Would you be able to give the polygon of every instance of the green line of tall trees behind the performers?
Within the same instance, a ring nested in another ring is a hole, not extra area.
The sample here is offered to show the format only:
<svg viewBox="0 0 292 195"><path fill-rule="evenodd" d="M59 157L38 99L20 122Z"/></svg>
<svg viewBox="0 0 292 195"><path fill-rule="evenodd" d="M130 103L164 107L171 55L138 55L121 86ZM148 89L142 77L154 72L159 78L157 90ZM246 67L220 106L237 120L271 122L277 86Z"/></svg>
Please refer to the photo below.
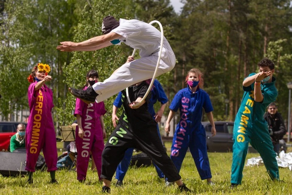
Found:
<svg viewBox="0 0 292 195"><path fill-rule="evenodd" d="M0 0L0 111L27 109L26 77L38 62L51 66L56 126L74 121L75 98L68 87L82 88L90 69L103 81L126 62L132 50L111 46L98 51L61 53L61 41L84 41L101 35L102 19L159 20L175 54L175 68L158 80L169 100L184 87L187 71L204 73L203 89L210 95L215 120L234 120L243 94L242 81L268 57L276 65L276 100L288 118L292 81L292 8L288 0L184 0L181 13L169 0ZM156 26L158 29L158 25ZM138 56L135 56L138 58ZM121 89L123 90L123 89ZM115 97L105 101L105 126L112 130ZM156 105L159 106L159 105ZM165 109L165 114L168 112ZM227 111L227 112L226 112ZM290 116L291 117L291 116ZM206 120L206 119L203 119Z"/></svg>

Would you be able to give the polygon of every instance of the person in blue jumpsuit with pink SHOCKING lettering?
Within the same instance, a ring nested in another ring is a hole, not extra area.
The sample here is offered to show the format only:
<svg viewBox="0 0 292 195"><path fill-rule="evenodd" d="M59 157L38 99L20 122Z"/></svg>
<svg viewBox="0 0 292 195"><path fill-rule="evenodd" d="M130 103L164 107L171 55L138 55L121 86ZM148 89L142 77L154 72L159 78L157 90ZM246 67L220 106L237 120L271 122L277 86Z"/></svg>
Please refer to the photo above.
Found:
<svg viewBox="0 0 292 195"><path fill-rule="evenodd" d="M202 108L204 108L212 126L212 136L216 135L212 114L213 107L207 92L200 88L203 86L203 78L199 69L189 70L186 83L188 86L179 90L169 106L170 112L165 125L167 133L170 131L169 123L175 112L178 109L180 111L180 120L173 136L170 158L177 170L180 171L182 161L189 148L201 179L207 179L208 184L214 185L211 180L212 175L207 155L206 132L201 123ZM166 185L168 185L167 181Z"/></svg>

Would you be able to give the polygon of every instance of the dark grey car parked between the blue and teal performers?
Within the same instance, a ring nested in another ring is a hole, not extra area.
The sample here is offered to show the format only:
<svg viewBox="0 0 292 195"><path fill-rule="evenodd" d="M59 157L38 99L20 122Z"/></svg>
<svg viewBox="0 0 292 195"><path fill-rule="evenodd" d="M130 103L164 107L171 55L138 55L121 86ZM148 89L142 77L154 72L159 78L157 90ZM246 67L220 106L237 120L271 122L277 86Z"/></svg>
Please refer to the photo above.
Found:
<svg viewBox="0 0 292 195"><path fill-rule="evenodd" d="M216 136L212 137L210 122L202 122L206 130L207 150L209 152L232 152L234 122L216 121Z"/></svg>

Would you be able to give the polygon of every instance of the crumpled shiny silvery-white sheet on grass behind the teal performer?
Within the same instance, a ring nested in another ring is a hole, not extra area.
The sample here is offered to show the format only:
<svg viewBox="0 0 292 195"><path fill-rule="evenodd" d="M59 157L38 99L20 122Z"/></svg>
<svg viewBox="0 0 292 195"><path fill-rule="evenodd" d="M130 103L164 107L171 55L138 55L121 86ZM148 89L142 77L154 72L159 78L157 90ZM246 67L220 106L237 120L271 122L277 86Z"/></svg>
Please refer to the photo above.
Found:
<svg viewBox="0 0 292 195"><path fill-rule="evenodd" d="M279 167L283 167L283 168L289 168L290 171L292 170L292 152L290 153L286 153L284 151L281 151L279 154L279 157L276 156L277 159L277 163ZM259 157L254 157L254 158L250 158L247 160L247 163L245 166L259 166L259 165L263 165L264 162L262 161L262 158Z"/></svg>

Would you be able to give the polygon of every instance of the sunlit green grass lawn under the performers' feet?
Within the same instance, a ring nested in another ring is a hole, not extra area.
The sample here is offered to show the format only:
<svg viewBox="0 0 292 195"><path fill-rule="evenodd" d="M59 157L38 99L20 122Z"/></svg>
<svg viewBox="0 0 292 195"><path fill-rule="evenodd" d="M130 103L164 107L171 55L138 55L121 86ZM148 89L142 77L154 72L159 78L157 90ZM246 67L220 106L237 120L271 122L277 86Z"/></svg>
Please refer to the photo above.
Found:
<svg viewBox="0 0 292 195"><path fill-rule="evenodd" d="M58 146L59 148L61 147ZM170 148L170 143L166 143ZM289 150L291 152L291 149ZM169 151L168 151L169 153ZM60 152L59 152L60 154ZM245 167L242 185L230 188L230 170L232 153L208 153L213 181L216 186L207 185L201 181L193 158L188 152L183 161L180 175L186 185L195 194L292 194L292 172L288 168L280 168L280 179L284 183L273 182L269 179L264 166ZM259 154L248 154L247 158L257 157ZM74 171L57 171L56 179L59 184L49 184L50 176L47 172L37 171L33 177L33 184L26 184L27 177L0 176L0 194L99 194L102 183L98 181L97 172L88 170L85 183L79 183ZM113 183L116 179L113 179ZM177 186L165 187L164 180L156 175L155 168L130 167L124 179L124 187L111 188L111 194L179 194ZM182 193L187 194L187 193Z"/></svg>

